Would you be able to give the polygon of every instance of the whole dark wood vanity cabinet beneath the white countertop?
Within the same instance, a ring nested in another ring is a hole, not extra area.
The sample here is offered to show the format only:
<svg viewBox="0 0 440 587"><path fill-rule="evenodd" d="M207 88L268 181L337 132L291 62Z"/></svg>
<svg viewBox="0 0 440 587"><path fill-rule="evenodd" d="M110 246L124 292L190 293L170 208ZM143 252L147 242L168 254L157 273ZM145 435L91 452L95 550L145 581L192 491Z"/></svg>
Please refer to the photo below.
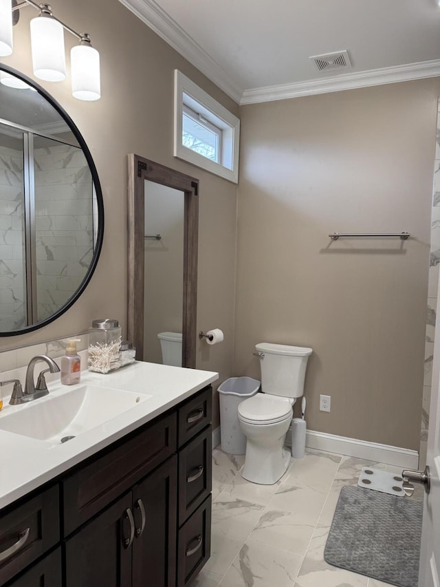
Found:
<svg viewBox="0 0 440 587"><path fill-rule="evenodd" d="M207 387L0 512L3 551L30 528L0 587L188 586L210 556L211 410Z"/></svg>

